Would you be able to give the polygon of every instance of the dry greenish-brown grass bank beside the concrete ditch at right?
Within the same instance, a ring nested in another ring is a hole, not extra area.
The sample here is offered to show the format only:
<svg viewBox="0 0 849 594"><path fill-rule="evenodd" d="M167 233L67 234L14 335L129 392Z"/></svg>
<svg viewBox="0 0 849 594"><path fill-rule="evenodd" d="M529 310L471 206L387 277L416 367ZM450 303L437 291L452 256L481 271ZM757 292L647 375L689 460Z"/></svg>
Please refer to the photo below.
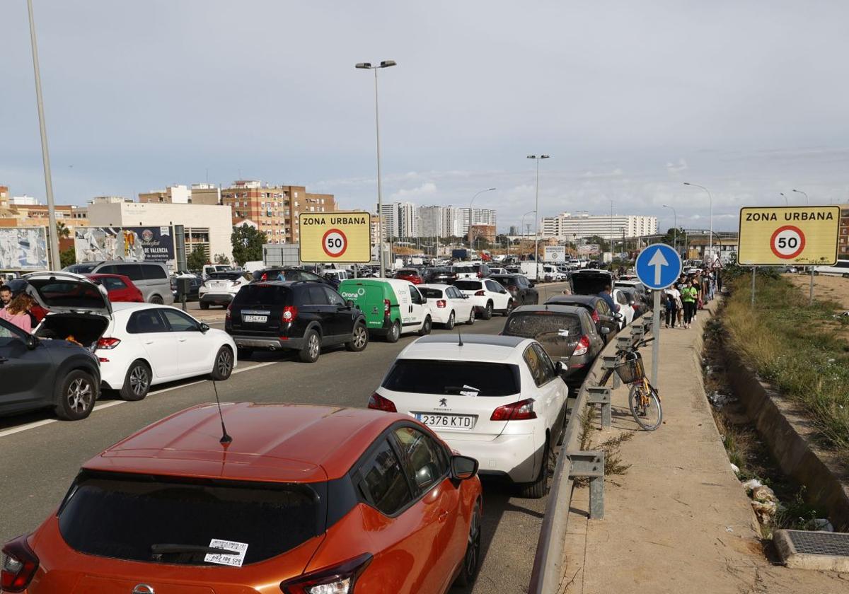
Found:
<svg viewBox="0 0 849 594"><path fill-rule="evenodd" d="M807 412L821 446L849 454L849 344L827 325L839 305L809 306L786 279L759 276L752 308L750 283L742 275L728 281L728 345Z"/></svg>

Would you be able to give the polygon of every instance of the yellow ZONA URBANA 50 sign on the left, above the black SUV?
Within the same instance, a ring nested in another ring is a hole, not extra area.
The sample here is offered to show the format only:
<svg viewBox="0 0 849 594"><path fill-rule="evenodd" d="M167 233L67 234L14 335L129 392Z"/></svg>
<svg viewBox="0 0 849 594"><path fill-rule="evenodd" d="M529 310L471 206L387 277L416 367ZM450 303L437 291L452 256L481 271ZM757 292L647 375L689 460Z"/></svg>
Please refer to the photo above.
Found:
<svg viewBox="0 0 849 594"><path fill-rule="evenodd" d="M301 262L366 264L371 261L368 212L302 212Z"/></svg>

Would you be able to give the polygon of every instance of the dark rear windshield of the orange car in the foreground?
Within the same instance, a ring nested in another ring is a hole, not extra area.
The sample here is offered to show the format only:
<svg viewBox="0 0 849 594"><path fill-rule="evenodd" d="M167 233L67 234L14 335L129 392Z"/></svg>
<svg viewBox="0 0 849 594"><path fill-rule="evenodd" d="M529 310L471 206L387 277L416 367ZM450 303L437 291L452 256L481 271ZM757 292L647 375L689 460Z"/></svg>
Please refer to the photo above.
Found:
<svg viewBox="0 0 849 594"><path fill-rule="evenodd" d="M59 531L76 551L101 557L205 564L191 547L218 539L245 543L244 563L256 563L323 533L324 486L83 473L59 510ZM189 552L155 557L161 544Z"/></svg>

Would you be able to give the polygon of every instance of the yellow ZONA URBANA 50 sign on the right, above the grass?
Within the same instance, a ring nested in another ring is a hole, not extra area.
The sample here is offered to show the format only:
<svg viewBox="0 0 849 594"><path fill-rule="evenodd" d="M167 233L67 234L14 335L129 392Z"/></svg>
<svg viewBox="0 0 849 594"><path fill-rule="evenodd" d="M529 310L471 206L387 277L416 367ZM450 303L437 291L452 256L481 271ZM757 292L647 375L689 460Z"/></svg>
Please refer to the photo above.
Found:
<svg viewBox="0 0 849 594"><path fill-rule="evenodd" d="M740 209L737 261L744 266L829 266L837 261L840 206Z"/></svg>

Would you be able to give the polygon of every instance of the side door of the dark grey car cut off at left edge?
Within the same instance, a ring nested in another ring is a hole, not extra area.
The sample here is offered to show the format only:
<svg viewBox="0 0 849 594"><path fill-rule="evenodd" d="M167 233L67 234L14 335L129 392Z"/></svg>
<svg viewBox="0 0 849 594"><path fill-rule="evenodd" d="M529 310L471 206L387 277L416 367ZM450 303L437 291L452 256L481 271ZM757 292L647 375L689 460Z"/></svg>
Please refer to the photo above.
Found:
<svg viewBox="0 0 849 594"><path fill-rule="evenodd" d="M53 358L43 346L28 349L26 337L17 326L0 320L0 410L53 399Z"/></svg>

